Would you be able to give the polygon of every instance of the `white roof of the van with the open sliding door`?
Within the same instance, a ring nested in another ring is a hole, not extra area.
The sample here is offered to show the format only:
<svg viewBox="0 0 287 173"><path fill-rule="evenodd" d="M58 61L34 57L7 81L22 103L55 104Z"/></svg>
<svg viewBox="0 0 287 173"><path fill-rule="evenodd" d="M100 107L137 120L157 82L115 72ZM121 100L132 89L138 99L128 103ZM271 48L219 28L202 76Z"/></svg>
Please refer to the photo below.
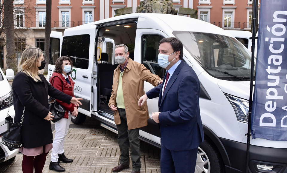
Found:
<svg viewBox="0 0 287 173"><path fill-rule="evenodd" d="M99 21L94 21L88 24L80 25L66 30L80 30L91 25L98 25L103 23L109 23L113 21L121 21L127 19L137 19L137 28L150 28L165 31L166 34L171 37L173 31L191 31L201 33L213 33L232 37L231 34L225 32L222 28L219 28L213 24L198 19L170 15L170 14L156 14L156 13L132 13L112 18L107 18ZM144 20L146 19L146 20ZM141 22L140 22L141 21Z"/></svg>

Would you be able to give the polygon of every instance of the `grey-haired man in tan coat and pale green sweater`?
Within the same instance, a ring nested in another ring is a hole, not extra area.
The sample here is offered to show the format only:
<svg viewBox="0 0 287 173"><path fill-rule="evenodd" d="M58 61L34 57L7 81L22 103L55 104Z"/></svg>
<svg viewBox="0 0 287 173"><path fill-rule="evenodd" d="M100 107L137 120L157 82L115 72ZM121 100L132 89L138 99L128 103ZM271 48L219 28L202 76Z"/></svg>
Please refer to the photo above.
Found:
<svg viewBox="0 0 287 173"><path fill-rule="evenodd" d="M144 81L153 86L162 83L158 75L152 74L143 64L129 58L128 47L115 46L115 58L119 66L114 71L114 83L109 108L114 112L120 146L120 164L112 169L120 172L129 168L129 145L131 147L132 173L140 173L141 155L139 128L147 125L149 111L147 104L138 106L138 99L144 95Z"/></svg>

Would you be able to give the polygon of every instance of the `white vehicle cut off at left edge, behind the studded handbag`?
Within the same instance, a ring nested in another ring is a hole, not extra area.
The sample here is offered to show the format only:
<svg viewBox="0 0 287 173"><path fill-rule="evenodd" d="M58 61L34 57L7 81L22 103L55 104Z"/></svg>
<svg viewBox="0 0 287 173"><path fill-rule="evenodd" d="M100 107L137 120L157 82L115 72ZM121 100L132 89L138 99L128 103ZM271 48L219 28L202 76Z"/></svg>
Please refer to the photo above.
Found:
<svg viewBox="0 0 287 173"><path fill-rule="evenodd" d="M9 96L11 91L11 86L8 82L8 80L12 80L14 78L14 72L12 69L6 70L6 75L4 75L3 71L0 68L0 134L2 134L5 130L4 123L5 118L7 116L8 112L8 106L9 106ZM14 112L14 106L13 106L13 100L10 100L10 109L9 109L9 115L14 118L15 112ZM3 125L3 126L2 126ZM5 126L7 129L7 126ZM3 145L1 143L1 136L0 136L0 163L9 160L9 159L15 159L18 149L10 149L7 146Z"/></svg>

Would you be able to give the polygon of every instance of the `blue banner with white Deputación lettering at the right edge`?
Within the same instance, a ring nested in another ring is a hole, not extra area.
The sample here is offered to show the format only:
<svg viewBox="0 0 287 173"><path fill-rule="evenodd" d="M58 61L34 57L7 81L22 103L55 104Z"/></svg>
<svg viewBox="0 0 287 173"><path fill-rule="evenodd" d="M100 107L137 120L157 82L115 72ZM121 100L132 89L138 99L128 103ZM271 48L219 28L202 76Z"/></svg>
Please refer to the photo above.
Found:
<svg viewBox="0 0 287 173"><path fill-rule="evenodd" d="M287 3L261 0L252 138L287 140Z"/></svg>

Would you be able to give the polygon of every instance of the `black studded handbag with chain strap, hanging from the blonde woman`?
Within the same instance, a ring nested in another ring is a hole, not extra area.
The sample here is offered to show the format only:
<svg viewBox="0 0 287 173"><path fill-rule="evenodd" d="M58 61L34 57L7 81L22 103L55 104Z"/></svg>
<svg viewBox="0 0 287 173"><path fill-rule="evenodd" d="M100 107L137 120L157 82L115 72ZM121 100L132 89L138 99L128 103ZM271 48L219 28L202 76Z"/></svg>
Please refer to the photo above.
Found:
<svg viewBox="0 0 287 173"><path fill-rule="evenodd" d="M10 92L10 99L12 99L12 89ZM5 123L8 125L8 132L5 133L1 138L1 143L6 145L9 148L17 149L22 147L22 122L24 118L25 107L23 109L23 114L21 117L21 121L17 123L13 123L13 118L9 115L10 110L10 101L9 108L7 112L7 117L5 118Z"/></svg>

